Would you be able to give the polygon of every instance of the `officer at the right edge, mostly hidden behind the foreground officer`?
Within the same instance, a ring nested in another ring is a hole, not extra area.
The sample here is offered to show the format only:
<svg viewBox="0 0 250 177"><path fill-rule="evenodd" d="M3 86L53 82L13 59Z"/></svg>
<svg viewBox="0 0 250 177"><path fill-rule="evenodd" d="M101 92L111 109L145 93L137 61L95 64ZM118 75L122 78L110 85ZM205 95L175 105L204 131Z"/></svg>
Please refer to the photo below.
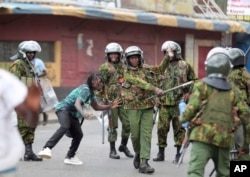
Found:
<svg viewBox="0 0 250 177"><path fill-rule="evenodd" d="M250 106L250 74L246 70L246 56L241 49L228 48L233 69L229 74L230 83L241 91L245 102ZM235 146L239 150L238 160L250 160L249 145L243 145L243 129L240 126L235 132Z"/></svg>

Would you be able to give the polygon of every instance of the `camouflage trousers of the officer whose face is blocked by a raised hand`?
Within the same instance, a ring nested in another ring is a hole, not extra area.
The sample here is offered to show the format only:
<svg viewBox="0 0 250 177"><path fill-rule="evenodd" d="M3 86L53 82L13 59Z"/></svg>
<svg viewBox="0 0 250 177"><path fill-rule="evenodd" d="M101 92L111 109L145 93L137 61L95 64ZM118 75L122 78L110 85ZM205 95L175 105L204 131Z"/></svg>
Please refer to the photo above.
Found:
<svg viewBox="0 0 250 177"><path fill-rule="evenodd" d="M179 108L177 106L162 105L159 109L159 120L157 125L158 146L167 147L167 136L170 124L174 131L175 146L181 146L185 137L185 129L181 128L179 121Z"/></svg>

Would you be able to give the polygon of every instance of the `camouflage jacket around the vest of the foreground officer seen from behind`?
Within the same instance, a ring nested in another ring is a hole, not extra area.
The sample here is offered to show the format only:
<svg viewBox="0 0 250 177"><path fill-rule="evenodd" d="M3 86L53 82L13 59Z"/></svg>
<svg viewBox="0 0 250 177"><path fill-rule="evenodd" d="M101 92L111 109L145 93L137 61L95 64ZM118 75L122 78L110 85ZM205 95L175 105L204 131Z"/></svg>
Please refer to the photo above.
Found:
<svg viewBox="0 0 250 177"><path fill-rule="evenodd" d="M209 101L209 96L213 93L214 88L208 86L202 81L194 84L192 95L188 105L182 114L181 122L191 122L194 127L191 129L190 140L203 143L213 144L215 146L230 148L232 144L232 131L225 131L223 124L207 123L199 120L202 115L202 110L206 106L206 101ZM239 89L233 87L229 92L229 100L231 107L237 110L238 116L243 124L245 131L245 141L250 141L250 124L249 124L249 108L243 101ZM216 99L216 97L213 97ZM233 112L233 110L232 110ZM218 112L219 116L219 112ZM195 124L193 124L196 122ZM199 122L199 123L197 123Z"/></svg>

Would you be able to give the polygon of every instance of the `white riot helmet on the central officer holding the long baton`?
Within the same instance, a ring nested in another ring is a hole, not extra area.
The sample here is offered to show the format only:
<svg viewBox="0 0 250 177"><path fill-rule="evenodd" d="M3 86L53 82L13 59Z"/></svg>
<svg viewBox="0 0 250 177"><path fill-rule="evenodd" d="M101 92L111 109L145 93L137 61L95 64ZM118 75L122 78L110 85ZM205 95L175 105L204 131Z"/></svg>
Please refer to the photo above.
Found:
<svg viewBox="0 0 250 177"><path fill-rule="evenodd" d="M126 64L127 66L131 66L131 63L129 61L129 58L131 56L138 56L139 57L139 67L141 67L143 65L143 51L140 49L140 47L138 46L129 46L128 48L126 48L125 50L125 59L126 59Z"/></svg>

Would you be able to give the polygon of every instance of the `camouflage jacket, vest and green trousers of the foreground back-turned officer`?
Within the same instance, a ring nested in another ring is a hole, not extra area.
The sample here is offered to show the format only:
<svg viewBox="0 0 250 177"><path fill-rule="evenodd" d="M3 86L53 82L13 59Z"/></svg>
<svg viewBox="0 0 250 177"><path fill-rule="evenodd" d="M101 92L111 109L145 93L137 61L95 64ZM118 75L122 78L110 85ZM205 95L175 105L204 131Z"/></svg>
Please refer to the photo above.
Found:
<svg viewBox="0 0 250 177"><path fill-rule="evenodd" d="M249 109L237 88L223 91L203 81L194 84L187 108L180 120L181 123L190 122L193 127L189 136L192 142L189 177L203 176L209 158L215 163L217 176L229 176L228 154L232 143L234 107L237 107L238 116L249 134Z"/></svg>

